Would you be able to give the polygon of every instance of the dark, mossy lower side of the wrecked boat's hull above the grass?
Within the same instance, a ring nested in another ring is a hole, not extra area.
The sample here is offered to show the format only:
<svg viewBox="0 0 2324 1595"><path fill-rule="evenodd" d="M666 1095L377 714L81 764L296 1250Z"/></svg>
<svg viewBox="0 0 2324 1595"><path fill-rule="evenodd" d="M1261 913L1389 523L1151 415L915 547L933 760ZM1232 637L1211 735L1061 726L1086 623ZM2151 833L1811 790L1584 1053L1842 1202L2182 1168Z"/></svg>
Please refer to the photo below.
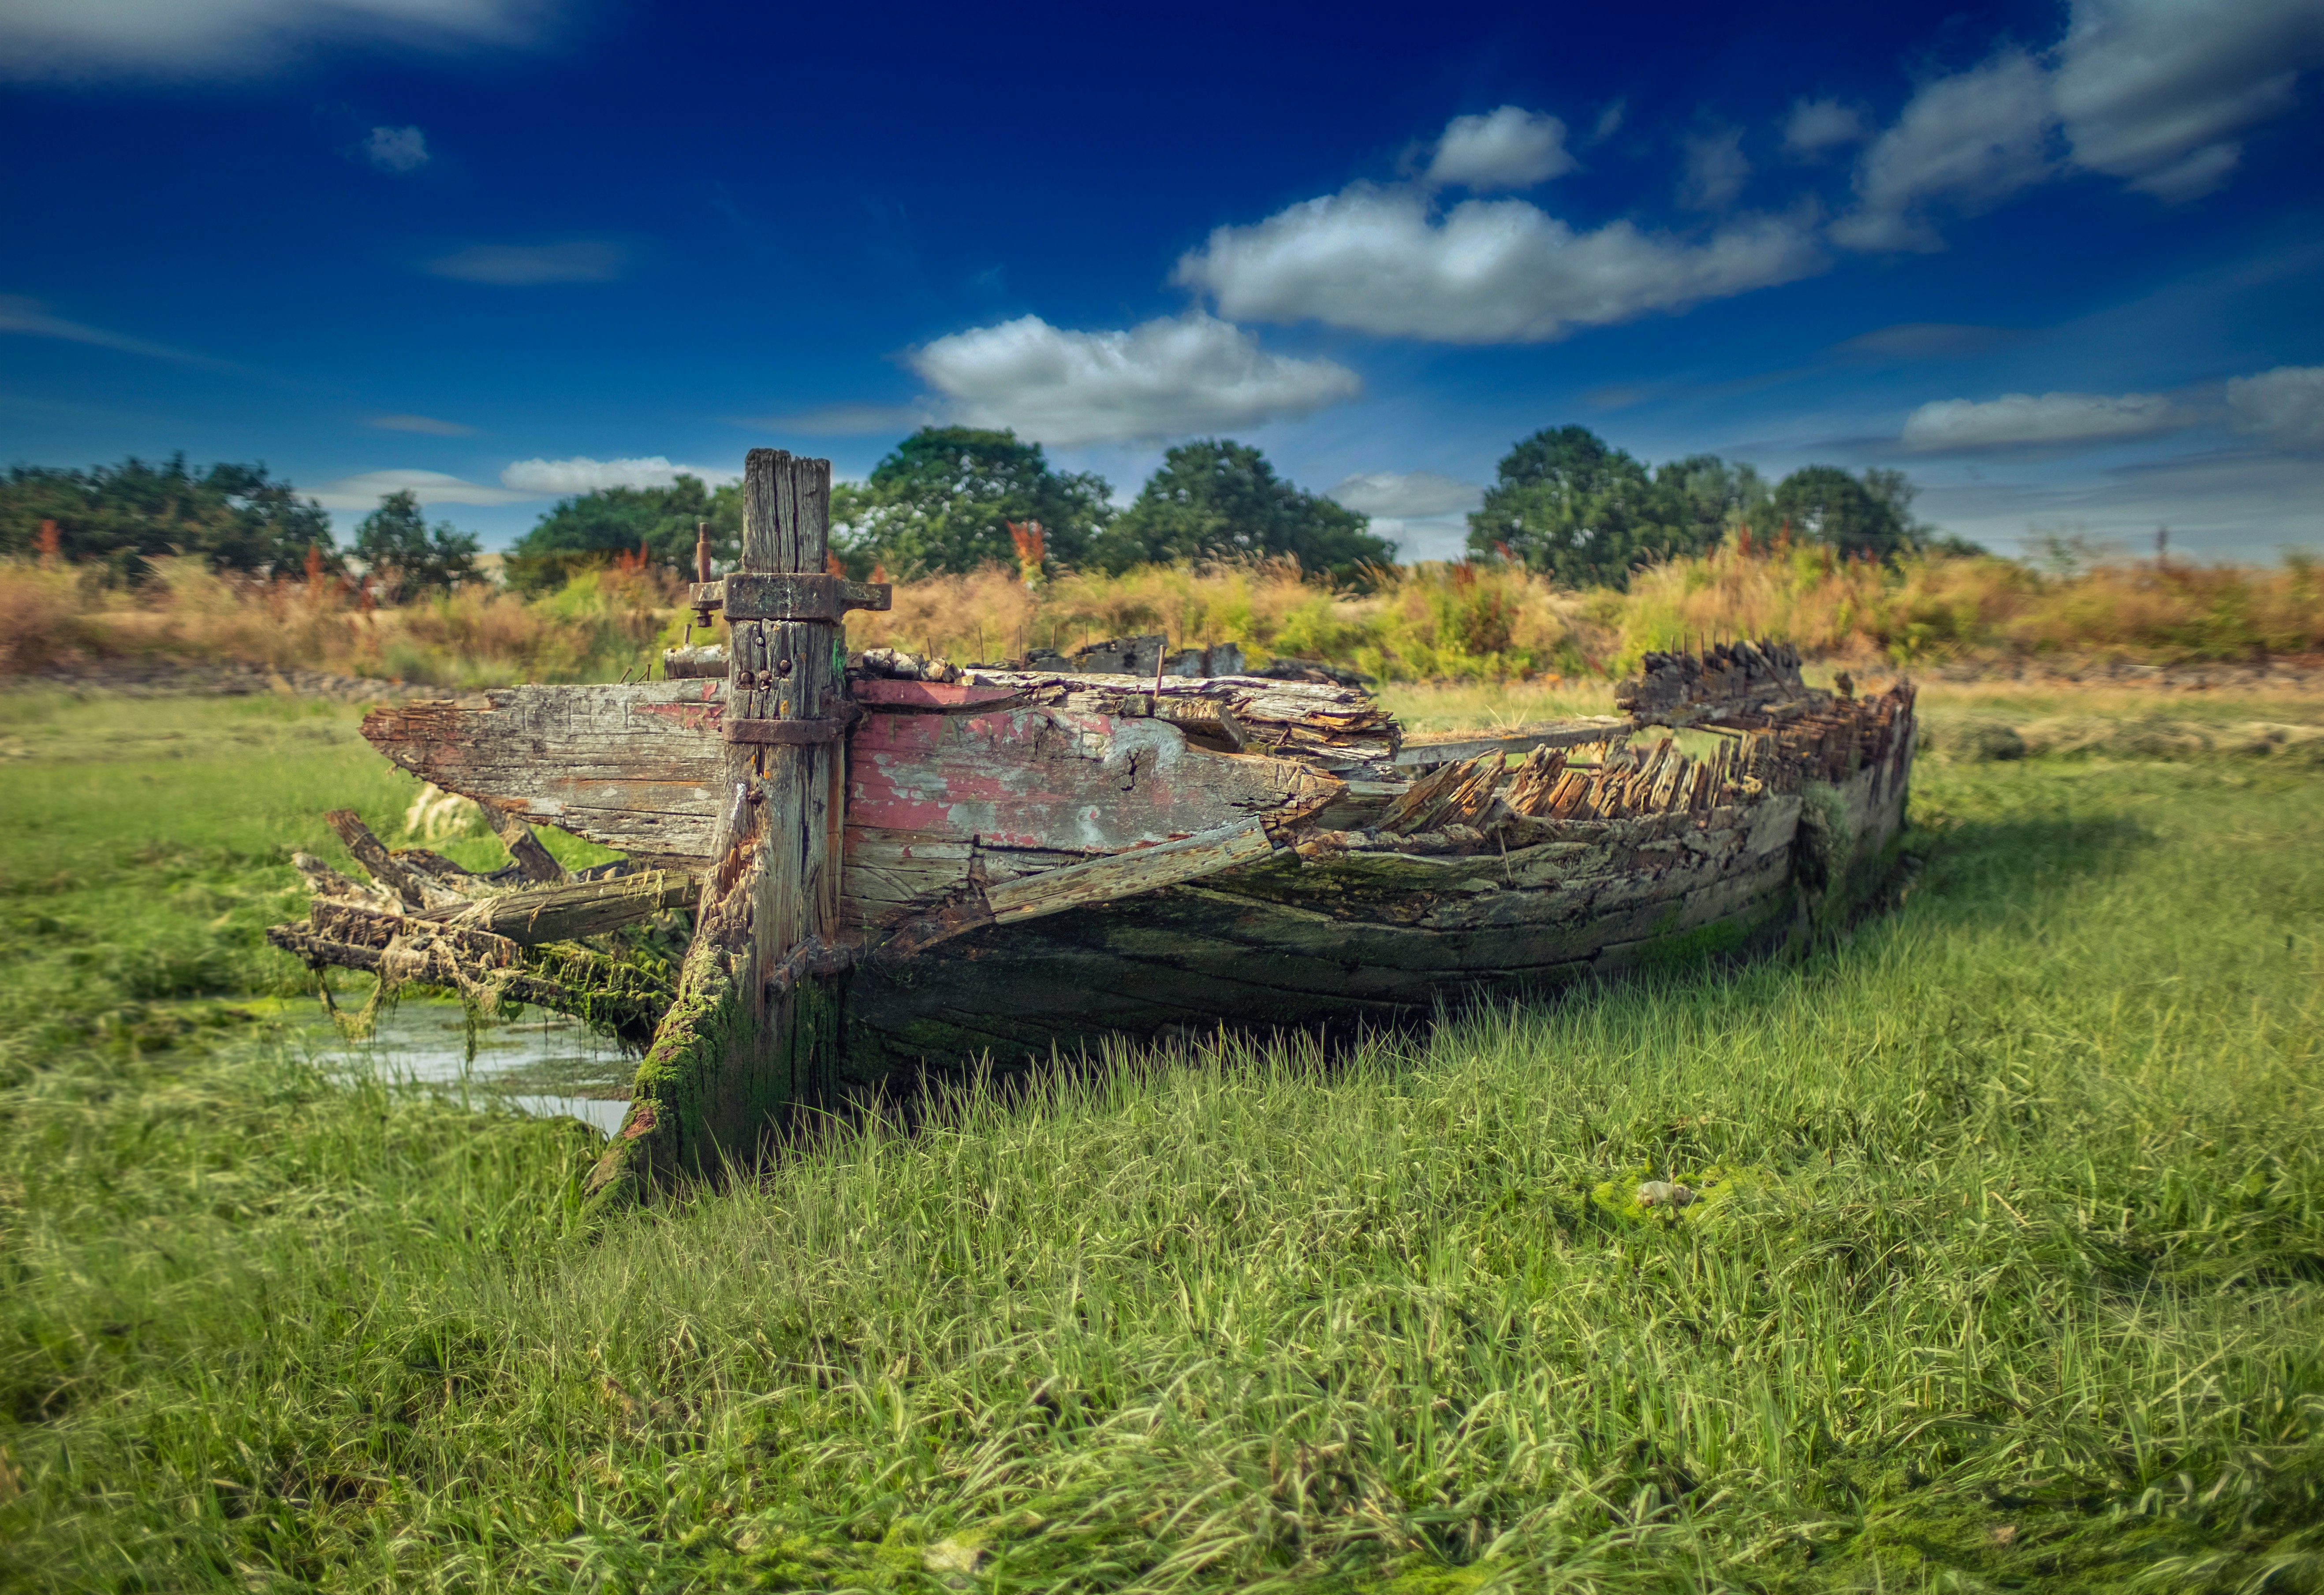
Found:
<svg viewBox="0 0 2324 1595"><path fill-rule="evenodd" d="M1843 816L1822 888L1799 879L1803 798L1766 793L1706 814L1543 825L1506 853L1278 856L874 958L848 984L848 1083L1106 1037L1401 1025L1766 946L1871 884L1903 825L1910 760L1906 732L1880 763L1808 788Z"/></svg>

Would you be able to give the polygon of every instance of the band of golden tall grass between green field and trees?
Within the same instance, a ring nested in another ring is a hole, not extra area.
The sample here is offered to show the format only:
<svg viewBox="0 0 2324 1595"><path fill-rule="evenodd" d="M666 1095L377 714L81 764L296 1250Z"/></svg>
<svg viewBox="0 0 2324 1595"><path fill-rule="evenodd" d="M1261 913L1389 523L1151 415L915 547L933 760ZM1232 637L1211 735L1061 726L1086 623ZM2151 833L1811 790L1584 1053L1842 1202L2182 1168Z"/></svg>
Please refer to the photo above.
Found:
<svg viewBox="0 0 2324 1595"><path fill-rule="evenodd" d="M376 609L339 581L239 581L165 560L137 593L30 563L0 563L0 674L86 658L232 658L407 681L576 681L641 670L674 642L679 584L583 570L558 593L495 588ZM895 607L848 618L848 646L953 660L1074 651L1164 632L1171 646L1234 642L1253 665L1320 658L1383 681L1559 688L1636 670L1650 649L1787 637L1859 677L1954 660L2231 663L2324 651L2324 584L2305 558L2275 567L2124 563L2043 574L1999 558L1901 565L1829 549L1750 549L1641 572L1629 591L1573 593L1504 563L1373 572L1336 591L1287 560L1150 565L1039 586L1002 567L925 577ZM1478 700L1520 714L1518 693Z"/></svg>

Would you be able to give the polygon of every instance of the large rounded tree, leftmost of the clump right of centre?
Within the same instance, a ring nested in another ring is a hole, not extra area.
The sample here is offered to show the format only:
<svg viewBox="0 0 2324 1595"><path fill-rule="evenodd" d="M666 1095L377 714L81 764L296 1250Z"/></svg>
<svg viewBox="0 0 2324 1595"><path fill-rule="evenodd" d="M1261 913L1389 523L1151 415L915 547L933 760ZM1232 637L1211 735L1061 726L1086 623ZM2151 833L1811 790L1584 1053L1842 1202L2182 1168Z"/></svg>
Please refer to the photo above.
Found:
<svg viewBox="0 0 2324 1595"><path fill-rule="evenodd" d="M1641 563L1687 549L1676 498L1678 477L1657 488L1643 463L1590 428L1543 428L1501 458L1469 516L1469 549L1506 546L1566 586L1624 586Z"/></svg>

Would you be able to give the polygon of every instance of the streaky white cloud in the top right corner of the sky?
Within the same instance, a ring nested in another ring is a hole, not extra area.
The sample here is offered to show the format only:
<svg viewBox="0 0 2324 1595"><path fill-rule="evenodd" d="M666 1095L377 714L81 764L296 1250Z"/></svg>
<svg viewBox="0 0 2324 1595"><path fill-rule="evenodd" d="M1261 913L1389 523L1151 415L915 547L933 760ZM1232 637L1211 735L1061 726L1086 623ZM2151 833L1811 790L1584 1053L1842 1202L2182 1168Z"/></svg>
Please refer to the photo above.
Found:
<svg viewBox="0 0 2324 1595"><path fill-rule="evenodd" d="M2238 133L2324 63L2319 0L2075 0L2052 88L2078 165L2164 200L2219 186Z"/></svg>

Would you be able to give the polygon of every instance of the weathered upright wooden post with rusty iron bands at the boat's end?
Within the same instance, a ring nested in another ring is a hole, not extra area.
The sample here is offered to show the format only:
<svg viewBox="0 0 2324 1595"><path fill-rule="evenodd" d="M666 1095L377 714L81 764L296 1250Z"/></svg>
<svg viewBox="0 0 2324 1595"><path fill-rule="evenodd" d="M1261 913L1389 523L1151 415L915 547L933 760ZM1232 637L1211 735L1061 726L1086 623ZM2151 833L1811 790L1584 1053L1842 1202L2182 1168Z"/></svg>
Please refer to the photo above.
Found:
<svg viewBox="0 0 2324 1595"><path fill-rule="evenodd" d="M885 588L825 574L832 463L744 460L741 567L695 588L727 618L725 779L679 995L593 1193L748 1156L830 1081L839 1049L839 844L848 609ZM706 574L706 572L702 572Z"/></svg>

